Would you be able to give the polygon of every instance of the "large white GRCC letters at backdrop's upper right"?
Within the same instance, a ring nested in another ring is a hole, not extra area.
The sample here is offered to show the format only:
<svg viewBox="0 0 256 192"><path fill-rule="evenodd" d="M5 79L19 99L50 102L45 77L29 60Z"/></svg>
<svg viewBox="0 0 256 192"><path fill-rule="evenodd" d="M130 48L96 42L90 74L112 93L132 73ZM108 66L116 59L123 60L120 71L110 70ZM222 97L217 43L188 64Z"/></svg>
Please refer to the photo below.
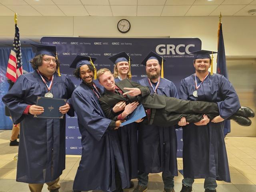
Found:
<svg viewBox="0 0 256 192"><path fill-rule="evenodd" d="M188 51L188 49L190 47L194 47L195 45L194 44L188 44L187 46L185 46L185 44L179 44L175 47L175 45L173 44L160 44L158 46L156 46L156 53L157 54L160 54L160 55L170 55L170 52L172 52L172 55L176 55L179 54L179 55L184 55L185 52L187 54L190 54L190 52ZM185 48L185 52L180 52L180 47L184 47Z"/></svg>

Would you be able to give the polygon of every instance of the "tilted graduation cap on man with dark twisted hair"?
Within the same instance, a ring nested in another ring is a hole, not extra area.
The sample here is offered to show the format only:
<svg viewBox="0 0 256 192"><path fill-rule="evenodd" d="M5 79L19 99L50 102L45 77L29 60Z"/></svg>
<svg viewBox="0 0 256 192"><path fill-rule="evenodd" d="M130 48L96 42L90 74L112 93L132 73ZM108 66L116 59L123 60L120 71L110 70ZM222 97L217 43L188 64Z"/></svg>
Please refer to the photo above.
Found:
<svg viewBox="0 0 256 192"><path fill-rule="evenodd" d="M94 68L94 80L95 80L97 78L97 70L96 70L93 62L96 61L96 59L97 58L95 58L95 57L87 57L87 56L77 55L69 67L76 69L83 65L91 65Z"/></svg>

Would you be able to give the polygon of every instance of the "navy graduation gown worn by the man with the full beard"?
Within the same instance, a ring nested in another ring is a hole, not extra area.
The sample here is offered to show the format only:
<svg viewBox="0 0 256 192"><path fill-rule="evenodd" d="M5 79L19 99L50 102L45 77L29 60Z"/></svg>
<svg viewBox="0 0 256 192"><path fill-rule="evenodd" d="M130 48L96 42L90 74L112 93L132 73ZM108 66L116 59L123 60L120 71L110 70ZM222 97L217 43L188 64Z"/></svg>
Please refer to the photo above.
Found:
<svg viewBox="0 0 256 192"><path fill-rule="evenodd" d="M138 81L143 86L153 88L148 78ZM157 94L178 98L178 92L173 82L160 78ZM174 126L160 127L155 125L139 124L138 128L138 170L146 173L165 172L173 176L177 171L177 137Z"/></svg>

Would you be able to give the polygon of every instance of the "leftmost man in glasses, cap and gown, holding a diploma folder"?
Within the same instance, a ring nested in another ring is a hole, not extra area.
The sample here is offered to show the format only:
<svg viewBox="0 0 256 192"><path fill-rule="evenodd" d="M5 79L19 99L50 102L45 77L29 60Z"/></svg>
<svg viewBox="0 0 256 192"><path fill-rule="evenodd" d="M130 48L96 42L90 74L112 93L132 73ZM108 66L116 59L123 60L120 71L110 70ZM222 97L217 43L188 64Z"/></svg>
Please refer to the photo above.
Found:
<svg viewBox="0 0 256 192"><path fill-rule="evenodd" d="M36 99L37 96L69 99L74 84L59 73L56 46L32 46L36 48L36 56L30 61L34 71L19 76L2 98L13 123L21 125L16 180L28 183L31 192L41 191L44 183L50 192L58 192L58 181L65 169L66 118L34 118L44 112L43 107L36 106ZM74 116L68 103L69 100L59 111Z"/></svg>

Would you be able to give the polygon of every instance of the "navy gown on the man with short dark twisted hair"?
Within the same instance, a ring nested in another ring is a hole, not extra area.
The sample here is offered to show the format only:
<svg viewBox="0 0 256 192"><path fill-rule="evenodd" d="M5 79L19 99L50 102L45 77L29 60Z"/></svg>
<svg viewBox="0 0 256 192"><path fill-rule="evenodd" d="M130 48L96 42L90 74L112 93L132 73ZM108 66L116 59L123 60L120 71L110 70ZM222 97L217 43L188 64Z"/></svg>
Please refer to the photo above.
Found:
<svg viewBox="0 0 256 192"><path fill-rule="evenodd" d="M99 88L100 85L96 86ZM114 191L115 161L120 172L122 188L129 186L130 180L124 170L118 132L108 129L108 126L115 125L115 122L105 117L96 94L82 82L72 94L72 105L82 135L82 158L73 189Z"/></svg>

